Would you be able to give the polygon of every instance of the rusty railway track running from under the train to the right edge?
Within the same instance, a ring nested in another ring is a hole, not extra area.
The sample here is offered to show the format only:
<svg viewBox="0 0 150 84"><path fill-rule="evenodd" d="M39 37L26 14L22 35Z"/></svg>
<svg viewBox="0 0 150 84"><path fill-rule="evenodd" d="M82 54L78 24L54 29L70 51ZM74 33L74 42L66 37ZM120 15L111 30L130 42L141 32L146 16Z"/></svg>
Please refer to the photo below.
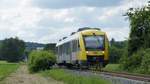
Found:
<svg viewBox="0 0 150 84"><path fill-rule="evenodd" d="M143 81L144 84L150 84L150 75L143 75L143 74L132 74L132 73L126 73L126 72L113 72L113 71L95 71L95 70L77 70L73 69L74 71L78 71L79 74L96 74L96 75L107 75L112 77L120 77L120 78L126 78L130 80L136 80L136 81ZM140 84L140 83L139 83Z"/></svg>

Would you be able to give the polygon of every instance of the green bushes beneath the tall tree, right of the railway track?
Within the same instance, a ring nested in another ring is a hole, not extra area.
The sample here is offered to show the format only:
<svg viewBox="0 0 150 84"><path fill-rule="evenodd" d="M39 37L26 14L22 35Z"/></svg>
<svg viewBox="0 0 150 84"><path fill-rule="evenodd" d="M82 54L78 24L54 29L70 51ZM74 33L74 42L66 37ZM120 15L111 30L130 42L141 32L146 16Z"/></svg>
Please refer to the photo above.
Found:
<svg viewBox="0 0 150 84"><path fill-rule="evenodd" d="M121 65L124 70L150 74L150 48L140 49L132 56L125 56L121 59Z"/></svg>

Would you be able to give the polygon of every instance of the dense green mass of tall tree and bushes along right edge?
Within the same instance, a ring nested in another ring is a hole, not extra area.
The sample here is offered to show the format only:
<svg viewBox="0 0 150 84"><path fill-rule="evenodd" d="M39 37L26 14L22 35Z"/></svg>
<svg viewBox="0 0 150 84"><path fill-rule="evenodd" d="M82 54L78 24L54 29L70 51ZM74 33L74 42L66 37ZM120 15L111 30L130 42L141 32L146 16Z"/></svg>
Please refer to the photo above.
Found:
<svg viewBox="0 0 150 84"><path fill-rule="evenodd" d="M131 8L128 49L121 59L125 70L150 74L150 6Z"/></svg>

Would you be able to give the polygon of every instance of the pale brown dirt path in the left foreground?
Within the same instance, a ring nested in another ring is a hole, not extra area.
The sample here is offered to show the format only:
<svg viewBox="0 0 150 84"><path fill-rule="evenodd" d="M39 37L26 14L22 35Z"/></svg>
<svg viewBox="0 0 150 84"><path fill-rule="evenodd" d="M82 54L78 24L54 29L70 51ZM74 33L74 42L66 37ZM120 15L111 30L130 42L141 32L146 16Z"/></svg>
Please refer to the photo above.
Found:
<svg viewBox="0 0 150 84"><path fill-rule="evenodd" d="M27 66L22 65L15 73L12 73L0 84L63 84L52 78L44 78L39 74L30 74Z"/></svg>

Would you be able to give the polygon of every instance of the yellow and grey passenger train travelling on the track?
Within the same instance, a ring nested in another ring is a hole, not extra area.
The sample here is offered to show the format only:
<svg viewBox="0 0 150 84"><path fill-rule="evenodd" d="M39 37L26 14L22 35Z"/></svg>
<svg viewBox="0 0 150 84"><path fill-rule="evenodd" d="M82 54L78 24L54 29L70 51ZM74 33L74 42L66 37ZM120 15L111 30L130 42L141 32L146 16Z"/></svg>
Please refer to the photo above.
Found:
<svg viewBox="0 0 150 84"><path fill-rule="evenodd" d="M109 41L99 28L80 28L56 44L57 64L89 67L108 64Z"/></svg>

